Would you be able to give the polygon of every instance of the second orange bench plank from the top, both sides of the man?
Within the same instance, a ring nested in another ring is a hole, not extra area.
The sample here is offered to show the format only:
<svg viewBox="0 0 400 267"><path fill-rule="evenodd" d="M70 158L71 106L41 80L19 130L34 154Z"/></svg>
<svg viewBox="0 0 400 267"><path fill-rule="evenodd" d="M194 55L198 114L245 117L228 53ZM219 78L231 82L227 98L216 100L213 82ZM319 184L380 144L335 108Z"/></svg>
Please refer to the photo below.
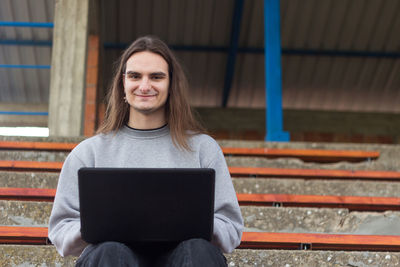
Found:
<svg viewBox="0 0 400 267"><path fill-rule="evenodd" d="M63 162L0 160L0 170L59 172ZM395 171L351 171L324 169L285 169L263 167L229 167L232 177L276 177L300 179L365 179L378 181L400 181L400 172Z"/></svg>

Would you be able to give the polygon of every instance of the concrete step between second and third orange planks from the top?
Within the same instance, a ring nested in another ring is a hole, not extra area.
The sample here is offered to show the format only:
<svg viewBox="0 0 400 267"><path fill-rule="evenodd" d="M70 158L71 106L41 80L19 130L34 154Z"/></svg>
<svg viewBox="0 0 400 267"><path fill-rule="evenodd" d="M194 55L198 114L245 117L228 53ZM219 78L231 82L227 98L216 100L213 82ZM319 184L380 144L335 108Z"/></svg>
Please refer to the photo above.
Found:
<svg viewBox="0 0 400 267"><path fill-rule="evenodd" d="M0 171L1 187L56 188L58 173ZM400 197L399 182L233 178L238 193Z"/></svg>

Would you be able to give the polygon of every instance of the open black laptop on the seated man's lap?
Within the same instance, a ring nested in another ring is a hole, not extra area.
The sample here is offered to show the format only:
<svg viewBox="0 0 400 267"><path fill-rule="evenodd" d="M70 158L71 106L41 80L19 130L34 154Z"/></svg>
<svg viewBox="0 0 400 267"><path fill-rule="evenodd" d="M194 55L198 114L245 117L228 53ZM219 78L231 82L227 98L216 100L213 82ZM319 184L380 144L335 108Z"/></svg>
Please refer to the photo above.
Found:
<svg viewBox="0 0 400 267"><path fill-rule="evenodd" d="M88 243L211 240L214 169L81 168L78 182Z"/></svg>

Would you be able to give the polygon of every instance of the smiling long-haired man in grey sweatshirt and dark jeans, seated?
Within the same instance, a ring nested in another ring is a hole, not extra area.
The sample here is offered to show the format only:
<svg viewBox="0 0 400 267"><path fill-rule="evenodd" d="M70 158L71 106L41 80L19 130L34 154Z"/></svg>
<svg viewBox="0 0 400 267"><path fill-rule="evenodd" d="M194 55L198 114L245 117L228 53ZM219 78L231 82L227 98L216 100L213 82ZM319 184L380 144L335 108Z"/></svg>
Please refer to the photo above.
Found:
<svg viewBox="0 0 400 267"><path fill-rule="evenodd" d="M158 38L141 37L124 51L103 124L68 155L60 173L49 238L62 256L80 255L77 266L226 266L222 253L239 245L243 219L223 153L195 120L187 90L182 67ZM190 239L159 251L117 242L87 244L80 234L82 167L213 168L212 241Z"/></svg>

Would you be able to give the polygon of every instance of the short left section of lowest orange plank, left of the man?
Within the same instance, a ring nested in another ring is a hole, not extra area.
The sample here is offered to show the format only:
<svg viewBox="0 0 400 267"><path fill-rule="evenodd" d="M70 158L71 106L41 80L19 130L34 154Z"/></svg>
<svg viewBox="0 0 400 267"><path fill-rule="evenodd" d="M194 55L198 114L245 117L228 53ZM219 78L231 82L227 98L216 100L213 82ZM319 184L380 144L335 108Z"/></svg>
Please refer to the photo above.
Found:
<svg viewBox="0 0 400 267"><path fill-rule="evenodd" d="M48 244L47 227L0 226L1 244Z"/></svg>

